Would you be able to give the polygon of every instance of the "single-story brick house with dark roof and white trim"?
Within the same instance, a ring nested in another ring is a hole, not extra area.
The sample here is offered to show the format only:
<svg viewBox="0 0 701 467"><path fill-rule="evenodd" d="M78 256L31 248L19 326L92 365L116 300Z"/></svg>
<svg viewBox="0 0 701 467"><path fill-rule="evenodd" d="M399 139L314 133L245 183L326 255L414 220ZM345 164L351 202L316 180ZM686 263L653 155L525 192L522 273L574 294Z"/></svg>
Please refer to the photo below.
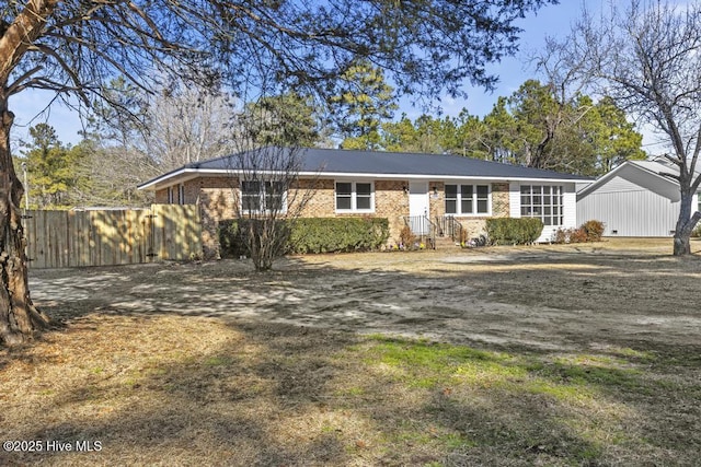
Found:
<svg viewBox="0 0 701 467"><path fill-rule="evenodd" d="M591 182L456 155L302 149L297 157L300 186L313 180L315 190L303 217L387 218L391 242L407 224L422 229L411 219L452 218L468 236L476 236L492 217L539 218L545 225L539 241L548 242L559 227L577 225L577 184ZM211 254L219 221L232 219L235 205L241 207L235 167L241 160L234 154L187 164L139 188L153 190L158 203L199 206L205 254Z"/></svg>

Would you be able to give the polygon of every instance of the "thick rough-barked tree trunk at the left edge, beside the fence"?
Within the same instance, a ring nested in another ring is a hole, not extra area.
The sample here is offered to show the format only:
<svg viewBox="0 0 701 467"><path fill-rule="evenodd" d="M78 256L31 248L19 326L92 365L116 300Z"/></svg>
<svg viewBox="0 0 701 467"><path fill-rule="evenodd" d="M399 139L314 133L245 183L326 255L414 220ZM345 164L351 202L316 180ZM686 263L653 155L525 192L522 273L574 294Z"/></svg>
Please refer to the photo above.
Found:
<svg viewBox="0 0 701 467"><path fill-rule="evenodd" d="M10 129L14 115L0 102L0 345L15 346L48 325L30 299L26 240L19 208L24 188L14 173Z"/></svg>

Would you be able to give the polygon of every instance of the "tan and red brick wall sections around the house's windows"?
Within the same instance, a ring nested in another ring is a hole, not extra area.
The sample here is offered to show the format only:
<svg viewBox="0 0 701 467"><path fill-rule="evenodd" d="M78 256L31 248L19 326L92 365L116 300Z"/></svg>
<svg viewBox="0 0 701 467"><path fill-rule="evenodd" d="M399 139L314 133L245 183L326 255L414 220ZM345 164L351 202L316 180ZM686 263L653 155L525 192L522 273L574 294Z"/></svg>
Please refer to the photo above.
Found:
<svg viewBox="0 0 701 467"><path fill-rule="evenodd" d="M232 185L234 185L232 187ZM310 198L301 212L304 218L335 218L335 217L374 217L387 218L390 226L389 243L398 243L400 232L404 227L404 217L409 215L409 194L405 188L409 180L376 180L375 182L375 212L372 213L336 213L335 212L335 180L331 178L303 179L299 183L297 194L288 196L295 199L310 194ZM434 194L434 188L437 195ZM310 192L311 189L311 192ZM508 217L509 214L508 183L492 184L492 217ZM432 220L445 215L445 183L428 182L428 198ZM198 205L203 223L203 248L206 258L219 256L219 222L234 219L238 208L238 182L232 184L227 177L199 177L184 184L184 203ZM177 203L177 186L174 187L174 202ZM156 191L156 202L168 202L168 189ZM289 207L295 210L294 206ZM457 217L467 231L467 236L474 237L485 231L487 217Z"/></svg>

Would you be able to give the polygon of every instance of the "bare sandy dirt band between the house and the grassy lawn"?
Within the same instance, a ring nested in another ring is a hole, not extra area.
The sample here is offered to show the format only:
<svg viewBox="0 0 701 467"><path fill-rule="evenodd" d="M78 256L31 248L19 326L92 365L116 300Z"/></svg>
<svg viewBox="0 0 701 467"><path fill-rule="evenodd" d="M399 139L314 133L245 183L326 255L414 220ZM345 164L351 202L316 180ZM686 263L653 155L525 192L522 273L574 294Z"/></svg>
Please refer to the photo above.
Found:
<svg viewBox="0 0 701 467"><path fill-rule="evenodd" d="M698 346L701 242L670 241L33 270L57 322L84 313L180 314L543 350Z"/></svg>

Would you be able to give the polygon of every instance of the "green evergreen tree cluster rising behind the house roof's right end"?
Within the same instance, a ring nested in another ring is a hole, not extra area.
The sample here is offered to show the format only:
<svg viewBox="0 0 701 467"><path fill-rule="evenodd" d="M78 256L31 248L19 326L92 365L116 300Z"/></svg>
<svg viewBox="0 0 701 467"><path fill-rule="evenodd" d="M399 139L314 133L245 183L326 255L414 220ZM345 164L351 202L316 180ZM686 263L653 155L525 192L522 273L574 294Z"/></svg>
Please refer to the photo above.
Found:
<svg viewBox="0 0 701 467"><path fill-rule="evenodd" d="M552 87L526 81L499 97L484 118L492 160L597 176L630 159L644 159L642 136L609 98L561 102Z"/></svg>

